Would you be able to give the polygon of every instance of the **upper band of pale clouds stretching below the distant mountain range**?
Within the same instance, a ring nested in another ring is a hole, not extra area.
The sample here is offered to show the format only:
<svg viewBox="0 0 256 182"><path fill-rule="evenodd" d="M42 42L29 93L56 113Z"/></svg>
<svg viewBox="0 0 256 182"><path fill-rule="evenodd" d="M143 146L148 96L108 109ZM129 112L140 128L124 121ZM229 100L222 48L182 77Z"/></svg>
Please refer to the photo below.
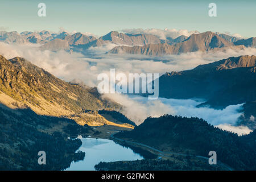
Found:
<svg viewBox="0 0 256 182"><path fill-rule="evenodd" d="M7 59L15 56L24 57L31 63L46 69L56 77L65 81L79 79L88 86L97 86L97 76L109 73L115 68L116 72L128 73L165 73L183 71L195 68L199 64L226 59L230 56L256 55L256 48L245 48L236 51L228 49L225 52L189 52L180 55L150 57L145 55L109 55L106 50L114 45L89 49L95 56L85 56L81 53L72 54L65 51L40 51L37 44L11 45L0 43L0 54Z"/></svg>

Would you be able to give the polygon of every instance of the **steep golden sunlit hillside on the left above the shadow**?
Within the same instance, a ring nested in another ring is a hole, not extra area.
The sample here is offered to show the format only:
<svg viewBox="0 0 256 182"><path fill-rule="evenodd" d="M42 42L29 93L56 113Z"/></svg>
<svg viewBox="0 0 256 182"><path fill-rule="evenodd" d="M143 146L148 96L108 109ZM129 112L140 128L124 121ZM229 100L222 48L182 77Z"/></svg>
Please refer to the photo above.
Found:
<svg viewBox="0 0 256 182"><path fill-rule="evenodd" d="M42 115L72 118L75 114L80 125L90 123L90 115L87 121L79 119L86 110L120 107L103 100L96 88L60 80L20 57L7 60L3 56L0 56L0 102L13 109L31 108Z"/></svg>

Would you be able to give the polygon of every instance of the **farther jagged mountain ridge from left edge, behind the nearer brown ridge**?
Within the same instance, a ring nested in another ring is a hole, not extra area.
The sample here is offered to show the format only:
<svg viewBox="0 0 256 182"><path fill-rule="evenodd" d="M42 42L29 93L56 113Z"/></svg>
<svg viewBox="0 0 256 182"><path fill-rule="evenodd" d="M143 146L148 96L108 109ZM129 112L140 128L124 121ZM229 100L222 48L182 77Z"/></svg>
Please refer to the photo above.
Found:
<svg viewBox="0 0 256 182"><path fill-rule="evenodd" d="M69 45L72 46L88 44L89 42L94 42L95 40L97 40L96 42L101 42L102 44L114 43L127 46L144 46L146 44L177 43L187 39L187 36L181 35L176 39L168 37L167 40L163 40L150 34L123 34L117 31L112 31L97 39L94 36L85 35L80 32L75 34L69 34L68 32L50 33L49 31L21 32L20 34L16 31L0 32L0 41L5 43L29 42L45 44L55 39L67 40Z"/></svg>

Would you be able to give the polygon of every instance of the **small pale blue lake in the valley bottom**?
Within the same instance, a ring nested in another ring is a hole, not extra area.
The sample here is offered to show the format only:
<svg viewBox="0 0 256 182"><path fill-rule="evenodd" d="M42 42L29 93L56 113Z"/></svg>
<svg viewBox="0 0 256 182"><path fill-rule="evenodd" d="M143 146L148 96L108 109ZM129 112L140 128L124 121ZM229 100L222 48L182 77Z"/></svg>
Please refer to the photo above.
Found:
<svg viewBox="0 0 256 182"><path fill-rule="evenodd" d="M72 162L66 170L94 171L94 166L100 162L114 162L118 160L143 159L130 148L122 147L108 139L83 138L80 151L85 152L85 158L79 162Z"/></svg>

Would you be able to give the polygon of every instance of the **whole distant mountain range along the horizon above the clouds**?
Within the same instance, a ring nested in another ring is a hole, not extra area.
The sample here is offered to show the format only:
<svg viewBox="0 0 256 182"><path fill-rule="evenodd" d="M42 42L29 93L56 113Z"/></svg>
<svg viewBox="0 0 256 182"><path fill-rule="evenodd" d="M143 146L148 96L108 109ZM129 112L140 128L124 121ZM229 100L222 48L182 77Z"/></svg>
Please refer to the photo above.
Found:
<svg viewBox="0 0 256 182"><path fill-rule="evenodd" d="M241 39L218 32L203 32L187 37L181 35L177 38L167 37L165 40L150 34L123 34L117 31L96 38L80 32L50 33L41 32L0 32L0 41L5 43L37 43L42 44L40 49L59 51L86 52L90 47L101 47L109 44L115 45L108 53L130 53L161 56L194 51L214 51L227 48L243 49L255 47L255 38Z"/></svg>

